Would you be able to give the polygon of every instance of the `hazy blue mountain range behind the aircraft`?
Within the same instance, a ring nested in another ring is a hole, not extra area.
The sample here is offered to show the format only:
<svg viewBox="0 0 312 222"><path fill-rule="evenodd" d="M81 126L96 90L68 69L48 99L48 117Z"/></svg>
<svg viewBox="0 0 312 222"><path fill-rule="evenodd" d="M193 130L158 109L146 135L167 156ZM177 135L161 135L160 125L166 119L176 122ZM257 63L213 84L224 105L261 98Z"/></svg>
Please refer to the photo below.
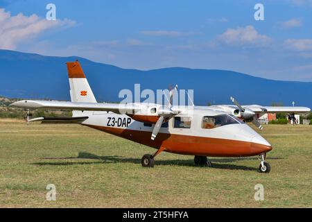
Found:
<svg viewBox="0 0 312 222"><path fill-rule="evenodd" d="M196 105L279 103L312 107L312 83L269 80L235 71L172 67L141 71L121 69L76 56L55 57L0 50L0 95L22 99L69 100L66 62L79 60L98 101L118 102L121 89L193 89Z"/></svg>

